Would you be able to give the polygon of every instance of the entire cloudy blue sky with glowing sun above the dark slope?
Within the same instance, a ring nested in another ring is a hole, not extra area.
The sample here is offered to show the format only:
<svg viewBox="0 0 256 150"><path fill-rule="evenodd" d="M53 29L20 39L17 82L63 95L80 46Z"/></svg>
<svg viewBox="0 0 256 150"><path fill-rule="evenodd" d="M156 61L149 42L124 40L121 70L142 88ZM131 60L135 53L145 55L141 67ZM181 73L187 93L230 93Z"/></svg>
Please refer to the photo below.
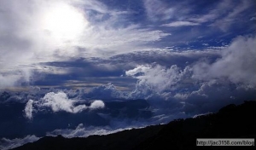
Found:
<svg viewBox="0 0 256 150"><path fill-rule="evenodd" d="M0 0L0 147L165 124L256 100L255 7Z"/></svg>

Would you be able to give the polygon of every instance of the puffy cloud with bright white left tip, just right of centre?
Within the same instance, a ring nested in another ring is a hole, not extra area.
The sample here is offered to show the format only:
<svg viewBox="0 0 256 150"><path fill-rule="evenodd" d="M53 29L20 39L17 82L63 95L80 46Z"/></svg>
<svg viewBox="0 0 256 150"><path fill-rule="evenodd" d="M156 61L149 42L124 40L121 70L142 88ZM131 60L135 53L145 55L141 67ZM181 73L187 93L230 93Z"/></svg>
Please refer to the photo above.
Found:
<svg viewBox="0 0 256 150"><path fill-rule="evenodd" d="M163 92L165 90L174 90L177 83L181 80L185 82L186 76L189 76L191 69L185 67L183 70L177 65L170 68L164 66L137 66L136 68L125 72L127 76L138 79L137 88L143 86L148 87L153 91Z"/></svg>

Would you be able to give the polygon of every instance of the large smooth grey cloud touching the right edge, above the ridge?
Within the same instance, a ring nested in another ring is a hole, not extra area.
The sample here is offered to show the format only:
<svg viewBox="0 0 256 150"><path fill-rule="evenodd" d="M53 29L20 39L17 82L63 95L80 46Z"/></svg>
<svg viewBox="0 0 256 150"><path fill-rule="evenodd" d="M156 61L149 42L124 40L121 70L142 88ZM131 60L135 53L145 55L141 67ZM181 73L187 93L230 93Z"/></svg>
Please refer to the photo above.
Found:
<svg viewBox="0 0 256 150"><path fill-rule="evenodd" d="M256 38L238 37L223 49L221 58L210 64L200 61L193 66L194 78L227 78L235 84L256 86Z"/></svg>

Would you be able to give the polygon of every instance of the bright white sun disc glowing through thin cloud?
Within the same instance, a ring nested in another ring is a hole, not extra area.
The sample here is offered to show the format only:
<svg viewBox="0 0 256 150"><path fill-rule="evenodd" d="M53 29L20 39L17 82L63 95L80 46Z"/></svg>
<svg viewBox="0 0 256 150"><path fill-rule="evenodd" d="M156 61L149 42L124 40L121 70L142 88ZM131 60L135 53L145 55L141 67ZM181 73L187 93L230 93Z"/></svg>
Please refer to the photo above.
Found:
<svg viewBox="0 0 256 150"><path fill-rule="evenodd" d="M88 21L79 9L67 3L58 3L44 11L41 26L50 36L63 42L78 38L88 26Z"/></svg>

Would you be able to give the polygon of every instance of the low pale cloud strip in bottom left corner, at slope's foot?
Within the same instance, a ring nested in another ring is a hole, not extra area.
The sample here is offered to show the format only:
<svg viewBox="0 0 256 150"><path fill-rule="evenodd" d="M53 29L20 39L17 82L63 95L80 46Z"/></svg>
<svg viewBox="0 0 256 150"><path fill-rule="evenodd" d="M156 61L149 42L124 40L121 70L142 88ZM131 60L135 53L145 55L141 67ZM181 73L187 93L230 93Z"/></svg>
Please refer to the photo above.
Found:
<svg viewBox="0 0 256 150"><path fill-rule="evenodd" d="M0 140L0 149L8 150L15 147L20 147L28 142L38 141L40 138L37 136L26 136L24 138L7 139L2 138Z"/></svg>

